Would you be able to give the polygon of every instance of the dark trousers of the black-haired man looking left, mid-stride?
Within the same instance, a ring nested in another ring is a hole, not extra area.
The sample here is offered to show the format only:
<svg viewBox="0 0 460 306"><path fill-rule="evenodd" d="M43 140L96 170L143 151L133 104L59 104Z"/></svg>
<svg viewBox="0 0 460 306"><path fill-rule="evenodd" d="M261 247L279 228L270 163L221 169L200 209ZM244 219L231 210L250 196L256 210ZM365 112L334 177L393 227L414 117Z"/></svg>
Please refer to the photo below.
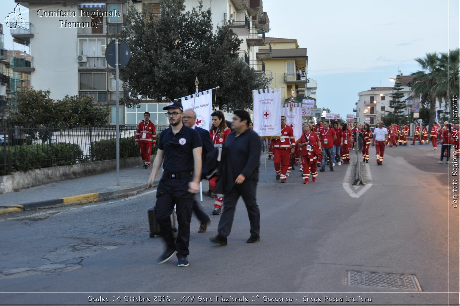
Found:
<svg viewBox="0 0 460 306"><path fill-rule="evenodd" d="M242 184L235 186L225 194L224 197L224 212L220 216L219 226L217 230L220 236L227 237L230 235L233 218L235 217L236 202L242 196L249 217L251 235L259 235L260 233L260 211L256 202L257 182L245 179Z"/></svg>

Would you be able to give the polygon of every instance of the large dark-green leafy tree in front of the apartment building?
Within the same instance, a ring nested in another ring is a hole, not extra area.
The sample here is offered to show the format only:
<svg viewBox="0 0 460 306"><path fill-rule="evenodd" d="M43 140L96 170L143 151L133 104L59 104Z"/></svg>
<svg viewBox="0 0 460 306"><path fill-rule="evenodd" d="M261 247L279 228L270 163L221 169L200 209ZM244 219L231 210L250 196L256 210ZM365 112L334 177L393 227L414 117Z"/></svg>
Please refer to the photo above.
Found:
<svg viewBox="0 0 460 306"><path fill-rule="evenodd" d="M185 12L184 0L161 0L160 15L142 14L130 6L127 26L118 38L131 46L131 59L120 79L137 105L137 97L173 100L201 89L219 86L216 107L252 108L252 90L265 80L238 59L241 40L229 25L213 33L211 8L202 3ZM231 24L231 23L230 23Z"/></svg>

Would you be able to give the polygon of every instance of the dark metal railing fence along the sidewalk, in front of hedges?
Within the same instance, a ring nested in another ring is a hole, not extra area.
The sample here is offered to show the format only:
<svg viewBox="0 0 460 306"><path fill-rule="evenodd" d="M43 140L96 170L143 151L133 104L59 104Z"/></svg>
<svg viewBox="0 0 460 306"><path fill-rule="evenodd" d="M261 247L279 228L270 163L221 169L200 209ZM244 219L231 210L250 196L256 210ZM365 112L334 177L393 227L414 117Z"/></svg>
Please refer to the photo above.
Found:
<svg viewBox="0 0 460 306"><path fill-rule="evenodd" d="M157 135L167 126L158 126ZM120 126L120 157L140 156L137 126ZM115 159L116 126L59 129L0 125L0 175L14 171Z"/></svg>

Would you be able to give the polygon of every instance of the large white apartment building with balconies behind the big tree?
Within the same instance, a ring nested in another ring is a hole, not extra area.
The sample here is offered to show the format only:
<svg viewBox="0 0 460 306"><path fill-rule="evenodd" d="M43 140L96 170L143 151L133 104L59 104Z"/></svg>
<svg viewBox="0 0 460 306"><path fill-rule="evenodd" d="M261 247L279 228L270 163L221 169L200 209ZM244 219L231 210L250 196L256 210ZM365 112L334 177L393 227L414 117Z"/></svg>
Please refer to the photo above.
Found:
<svg viewBox="0 0 460 306"><path fill-rule="evenodd" d="M30 46L33 57L24 63L23 73L33 76L35 89L50 89L52 99L62 99L66 94L88 94L96 103L112 109L109 122L115 118L115 69L107 65L105 49L114 33L124 26L123 18L129 5L141 12L161 13L160 0L16 0L29 8L26 24L11 29L15 42ZM233 20L232 29L241 44L242 59L265 76L265 67L257 55L258 47L265 46L265 33L270 29L262 0L213 0L213 24L226 24ZM196 0L185 1L186 10L198 5ZM81 13L81 10L84 13ZM92 18L92 13L106 12ZM74 23L84 27L73 27ZM97 25L96 25L97 24ZM265 52L269 53L269 52ZM267 55L265 55L267 56ZM120 97L124 92L119 84ZM0 97L1 98L1 97ZM140 108L120 106L121 124L138 124L145 111L155 124L167 124L163 114L166 103L143 100Z"/></svg>

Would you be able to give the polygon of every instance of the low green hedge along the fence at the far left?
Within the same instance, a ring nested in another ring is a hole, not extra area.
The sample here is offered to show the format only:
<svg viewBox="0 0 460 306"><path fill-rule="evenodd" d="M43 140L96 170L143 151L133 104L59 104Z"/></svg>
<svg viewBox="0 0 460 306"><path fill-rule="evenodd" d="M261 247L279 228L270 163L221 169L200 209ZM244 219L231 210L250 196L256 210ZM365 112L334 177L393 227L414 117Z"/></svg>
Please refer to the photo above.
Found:
<svg viewBox="0 0 460 306"><path fill-rule="evenodd" d="M86 161L80 146L64 142L0 147L0 175Z"/></svg>

